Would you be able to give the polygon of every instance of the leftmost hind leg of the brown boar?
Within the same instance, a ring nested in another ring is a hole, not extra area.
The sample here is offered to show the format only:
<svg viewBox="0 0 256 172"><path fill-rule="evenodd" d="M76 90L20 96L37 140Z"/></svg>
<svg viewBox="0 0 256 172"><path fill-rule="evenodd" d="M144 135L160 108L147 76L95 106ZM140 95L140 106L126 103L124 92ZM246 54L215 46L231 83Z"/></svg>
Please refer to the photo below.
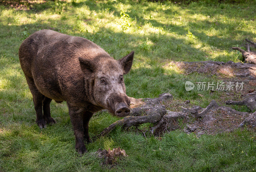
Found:
<svg viewBox="0 0 256 172"><path fill-rule="evenodd" d="M26 77L27 82L28 82L28 87L32 93L33 96L33 102L36 110L36 123L39 126L40 129L46 128L46 123L44 121L44 116L43 116L43 100L44 100L44 95L41 94L34 83L34 79L30 77Z"/></svg>

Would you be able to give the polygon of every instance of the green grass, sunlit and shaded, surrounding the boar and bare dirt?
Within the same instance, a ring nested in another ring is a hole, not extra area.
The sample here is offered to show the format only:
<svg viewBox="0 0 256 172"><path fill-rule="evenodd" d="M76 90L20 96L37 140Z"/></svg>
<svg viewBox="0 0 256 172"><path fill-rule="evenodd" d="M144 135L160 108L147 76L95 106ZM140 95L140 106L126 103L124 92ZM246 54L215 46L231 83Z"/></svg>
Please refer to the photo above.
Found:
<svg viewBox="0 0 256 172"><path fill-rule="evenodd" d="M170 91L175 99L206 107L212 99L221 102L221 93L186 92L184 83L217 81L215 76L185 76L175 66L163 65L170 61L242 60L231 47L243 45L245 38L255 41L253 4L255 1L184 5L75 0L32 4L28 11L0 5L0 171L256 170L255 133L247 130L200 138L173 131L159 140L117 129L88 144L87 149L95 152L120 146L129 157L118 160L111 169L100 167L90 153L78 158L65 103L51 103L57 124L44 130L36 125L32 95L18 57L26 37L49 28L94 41L116 59L134 50L132 70L124 78L128 96L156 97ZM90 135L117 119L96 113L90 122Z"/></svg>

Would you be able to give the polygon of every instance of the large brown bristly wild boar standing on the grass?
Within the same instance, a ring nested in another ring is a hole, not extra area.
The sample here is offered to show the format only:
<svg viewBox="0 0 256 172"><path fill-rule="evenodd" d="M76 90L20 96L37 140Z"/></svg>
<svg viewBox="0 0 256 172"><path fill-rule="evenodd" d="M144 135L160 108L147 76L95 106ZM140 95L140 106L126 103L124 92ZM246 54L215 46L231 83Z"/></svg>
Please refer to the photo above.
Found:
<svg viewBox="0 0 256 172"><path fill-rule="evenodd" d="M123 75L132 67L132 51L119 60L82 37L40 30L25 39L19 49L20 65L33 96L39 128L56 121L50 102L67 101L79 154L87 152L84 139L89 120L101 109L116 116L130 114Z"/></svg>

